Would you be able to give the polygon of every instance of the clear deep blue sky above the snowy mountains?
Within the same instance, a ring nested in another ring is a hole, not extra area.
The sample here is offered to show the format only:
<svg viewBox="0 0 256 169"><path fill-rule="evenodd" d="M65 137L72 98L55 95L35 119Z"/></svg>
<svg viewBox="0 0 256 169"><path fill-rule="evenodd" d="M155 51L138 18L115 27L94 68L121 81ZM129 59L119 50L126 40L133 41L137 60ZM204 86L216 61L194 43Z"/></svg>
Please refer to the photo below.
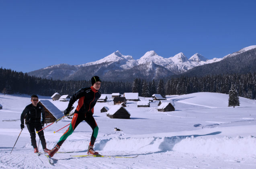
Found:
<svg viewBox="0 0 256 169"><path fill-rule="evenodd" d="M256 45L255 0L0 0L0 67L30 72L119 50L221 58Z"/></svg>

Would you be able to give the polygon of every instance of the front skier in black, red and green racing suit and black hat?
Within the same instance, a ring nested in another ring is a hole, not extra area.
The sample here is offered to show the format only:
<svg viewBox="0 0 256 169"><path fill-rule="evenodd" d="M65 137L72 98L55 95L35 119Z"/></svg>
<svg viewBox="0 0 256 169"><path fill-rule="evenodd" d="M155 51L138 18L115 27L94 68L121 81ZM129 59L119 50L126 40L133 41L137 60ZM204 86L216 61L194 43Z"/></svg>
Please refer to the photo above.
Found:
<svg viewBox="0 0 256 169"><path fill-rule="evenodd" d="M70 113L72 105L75 103L75 101L79 99L78 106L76 107L70 126L68 127L67 131L61 136L55 147L49 152L49 156L53 157L53 155L59 150L59 147L63 144L63 142L68 138L68 136L73 133L78 124L82 121L86 121L86 123L88 123L88 125L90 125L90 127L92 128L92 137L88 146L87 153L92 155L98 155L98 152L94 151L93 149L94 142L98 135L98 125L92 114L94 111L94 105L101 96L101 93L98 91L100 89L101 80L98 76L93 76L91 78L91 82L91 87L82 88L71 97L68 108L64 111L64 115L68 115Z"/></svg>

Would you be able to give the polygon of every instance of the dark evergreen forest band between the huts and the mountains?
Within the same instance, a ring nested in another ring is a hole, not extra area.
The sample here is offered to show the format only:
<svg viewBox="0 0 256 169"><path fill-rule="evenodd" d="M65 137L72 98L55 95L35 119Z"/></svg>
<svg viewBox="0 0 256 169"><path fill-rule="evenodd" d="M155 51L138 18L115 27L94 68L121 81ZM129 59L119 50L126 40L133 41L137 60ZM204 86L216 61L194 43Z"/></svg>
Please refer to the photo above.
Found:
<svg viewBox="0 0 256 169"><path fill-rule="evenodd" d="M135 78L133 82L102 82L101 93L139 93L141 97L151 97L153 94L184 95L197 92L212 92L228 94L234 85L240 97L256 99L256 72L246 74L217 74L204 77L172 77L146 81ZM0 89L3 93L20 93L29 95L51 96L73 95L82 87L90 87L90 80L49 80L11 69L0 68Z"/></svg>

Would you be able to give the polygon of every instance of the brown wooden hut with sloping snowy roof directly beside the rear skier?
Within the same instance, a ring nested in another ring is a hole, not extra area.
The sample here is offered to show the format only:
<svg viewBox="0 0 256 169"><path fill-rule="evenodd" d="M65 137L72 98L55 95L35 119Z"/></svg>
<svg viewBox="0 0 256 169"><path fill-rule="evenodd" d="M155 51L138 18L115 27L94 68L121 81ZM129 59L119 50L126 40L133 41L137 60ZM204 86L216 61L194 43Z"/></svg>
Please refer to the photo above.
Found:
<svg viewBox="0 0 256 169"><path fill-rule="evenodd" d="M53 123L64 114L48 100L40 100L38 102L45 110L45 123Z"/></svg>

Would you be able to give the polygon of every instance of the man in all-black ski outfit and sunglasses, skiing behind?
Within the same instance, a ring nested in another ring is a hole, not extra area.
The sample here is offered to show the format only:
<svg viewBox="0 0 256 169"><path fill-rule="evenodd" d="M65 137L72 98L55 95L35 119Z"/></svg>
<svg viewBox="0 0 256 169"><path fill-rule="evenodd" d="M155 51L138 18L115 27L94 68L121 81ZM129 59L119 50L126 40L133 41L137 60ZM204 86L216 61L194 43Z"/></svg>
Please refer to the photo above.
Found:
<svg viewBox="0 0 256 169"><path fill-rule="evenodd" d="M31 137L31 145L34 148L34 153L38 153L37 142L35 139L35 136L36 136L35 129L36 131L43 129L42 126L44 125L44 121L45 121L45 110L40 104L37 104L38 103L37 95L31 96L31 102L32 103L30 105L27 105L20 115L20 122L21 122L20 128L23 129L25 127L24 126L24 119L25 119L27 128L30 133L30 137ZM42 114L42 121L41 121L41 114ZM45 136L43 135L43 130L38 132L38 136L41 140L43 151L45 153L48 153L50 150L46 148L46 142L45 142Z"/></svg>

